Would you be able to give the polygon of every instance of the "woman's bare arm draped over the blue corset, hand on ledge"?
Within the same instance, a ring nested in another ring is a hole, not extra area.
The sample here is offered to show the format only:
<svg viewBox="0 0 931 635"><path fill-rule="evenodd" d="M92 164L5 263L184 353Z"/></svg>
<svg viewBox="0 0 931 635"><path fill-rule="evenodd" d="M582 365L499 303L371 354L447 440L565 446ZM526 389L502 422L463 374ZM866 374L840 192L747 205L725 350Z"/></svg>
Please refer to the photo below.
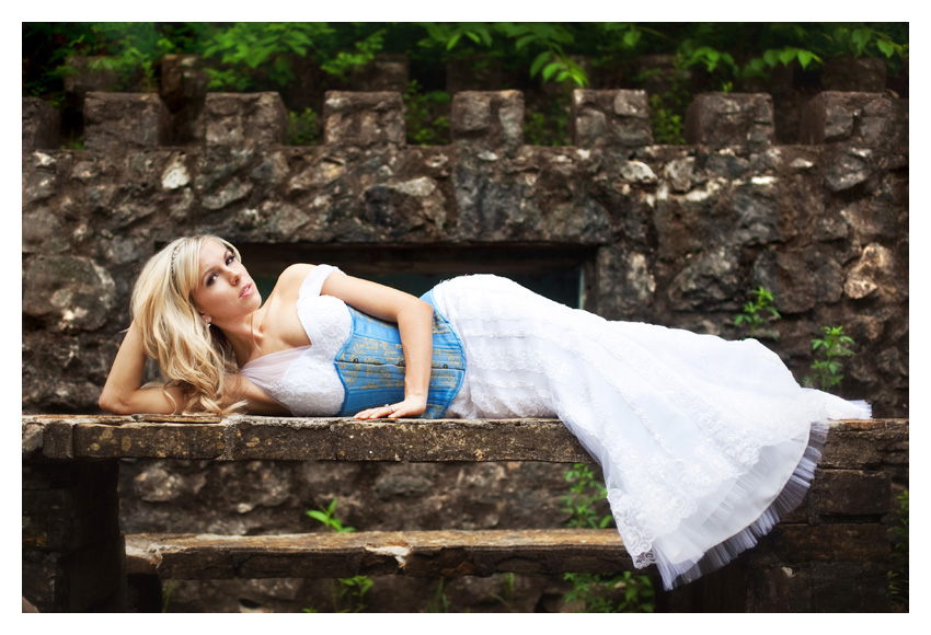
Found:
<svg viewBox="0 0 931 635"><path fill-rule="evenodd" d="M433 307L410 293L345 275L331 275L322 292L373 318L395 322L404 350L404 401L369 408L357 419L415 417L427 407L433 359Z"/></svg>

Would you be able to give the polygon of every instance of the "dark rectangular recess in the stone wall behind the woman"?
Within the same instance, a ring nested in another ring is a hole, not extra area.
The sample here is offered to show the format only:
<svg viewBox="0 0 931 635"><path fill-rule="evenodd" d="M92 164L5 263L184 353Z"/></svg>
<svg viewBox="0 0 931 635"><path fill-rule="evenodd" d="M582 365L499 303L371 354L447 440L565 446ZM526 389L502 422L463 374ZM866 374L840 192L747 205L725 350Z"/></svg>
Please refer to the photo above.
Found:
<svg viewBox="0 0 931 635"><path fill-rule="evenodd" d="M243 264L263 298L290 264L327 264L421 296L442 280L470 274L495 274L573 309L585 305L595 247L578 245L429 245L372 246L237 244Z"/></svg>

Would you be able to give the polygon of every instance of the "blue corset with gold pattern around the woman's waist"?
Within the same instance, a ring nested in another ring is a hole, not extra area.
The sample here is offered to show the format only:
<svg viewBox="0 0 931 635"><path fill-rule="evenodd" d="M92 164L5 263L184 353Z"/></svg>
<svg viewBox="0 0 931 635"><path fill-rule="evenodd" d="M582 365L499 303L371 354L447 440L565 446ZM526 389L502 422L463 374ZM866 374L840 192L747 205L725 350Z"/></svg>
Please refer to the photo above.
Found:
<svg viewBox="0 0 931 635"><path fill-rule="evenodd" d="M433 371L427 409L422 417L438 419L465 378L462 344L434 304L433 291L422 300L434 307ZM336 354L336 372L346 389L341 417L404 400L404 353L398 325L346 307L353 316L349 338Z"/></svg>

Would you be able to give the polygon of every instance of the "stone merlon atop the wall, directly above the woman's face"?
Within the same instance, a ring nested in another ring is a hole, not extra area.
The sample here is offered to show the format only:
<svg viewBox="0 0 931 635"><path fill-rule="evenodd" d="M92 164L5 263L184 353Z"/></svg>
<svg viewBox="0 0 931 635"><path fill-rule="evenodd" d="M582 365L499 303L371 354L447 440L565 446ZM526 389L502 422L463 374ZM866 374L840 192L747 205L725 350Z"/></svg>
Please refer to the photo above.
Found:
<svg viewBox="0 0 931 635"><path fill-rule="evenodd" d="M204 102L207 146L284 146L288 112L278 93L208 93Z"/></svg>

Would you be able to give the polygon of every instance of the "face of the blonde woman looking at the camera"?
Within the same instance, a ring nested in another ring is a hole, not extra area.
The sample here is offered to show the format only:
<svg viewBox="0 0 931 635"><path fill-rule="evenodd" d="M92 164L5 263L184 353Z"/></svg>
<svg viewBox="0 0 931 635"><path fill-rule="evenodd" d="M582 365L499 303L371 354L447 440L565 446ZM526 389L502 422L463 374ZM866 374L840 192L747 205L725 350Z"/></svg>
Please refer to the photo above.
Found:
<svg viewBox="0 0 931 635"><path fill-rule="evenodd" d="M241 319L262 304L258 289L233 253L207 240L200 247L200 267L192 298L205 320L221 326Z"/></svg>

